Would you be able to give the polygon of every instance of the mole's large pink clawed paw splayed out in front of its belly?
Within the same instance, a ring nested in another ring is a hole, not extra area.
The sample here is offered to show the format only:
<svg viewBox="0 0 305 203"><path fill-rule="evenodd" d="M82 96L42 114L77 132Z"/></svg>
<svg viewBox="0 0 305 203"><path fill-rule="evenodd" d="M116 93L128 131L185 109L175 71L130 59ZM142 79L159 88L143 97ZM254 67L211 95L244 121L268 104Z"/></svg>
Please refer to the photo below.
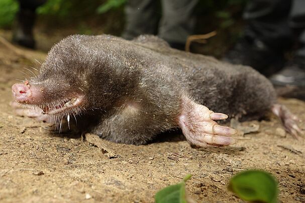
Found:
<svg viewBox="0 0 305 203"><path fill-rule="evenodd" d="M236 134L236 130L221 126L214 121L227 118L225 114L214 113L207 107L186 98L178 122L186 140L191 144L201 147L220 147L236 143L231 137Z"/></svg>

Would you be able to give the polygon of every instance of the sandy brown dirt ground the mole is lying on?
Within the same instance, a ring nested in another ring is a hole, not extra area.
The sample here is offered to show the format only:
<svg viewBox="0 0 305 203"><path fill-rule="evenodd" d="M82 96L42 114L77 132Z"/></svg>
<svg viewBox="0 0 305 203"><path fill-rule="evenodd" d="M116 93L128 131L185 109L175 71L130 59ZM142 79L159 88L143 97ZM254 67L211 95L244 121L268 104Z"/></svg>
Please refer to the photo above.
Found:
<svg viewBox="0 0 305 203"><path fill-rule="evenodd" d="M223 148L192 148L179 135L144 146L94 135L83 140L15 116L11 86L24 79L24 67L39 65L33 59L44 57L0 42L1 202L153 202L157 190L187 173L193 175L187 191L197 202L243 202L227 189L228 181L253 168L276 177L280 202L305 202L305 138L293 139L274 116L243 123L259 130L239 133L237 144ZM305 120L303 101L279 101Z"/></svg>

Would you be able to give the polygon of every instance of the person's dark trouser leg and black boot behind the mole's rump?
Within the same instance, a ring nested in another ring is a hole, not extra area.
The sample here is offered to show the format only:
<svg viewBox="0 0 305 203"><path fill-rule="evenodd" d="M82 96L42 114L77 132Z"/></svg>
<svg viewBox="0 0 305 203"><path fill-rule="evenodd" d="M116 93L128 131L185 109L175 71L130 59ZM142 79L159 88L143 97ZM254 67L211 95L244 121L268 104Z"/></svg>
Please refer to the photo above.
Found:
<svg viewBox="0 0 305 203"><path fill-rule="evenodd" d="M290 0L252 0L244 12L248 22L244 37L224 60L252 66L263 74L280 69L283 52L291 46L293 33L288 25Z"/></svg>

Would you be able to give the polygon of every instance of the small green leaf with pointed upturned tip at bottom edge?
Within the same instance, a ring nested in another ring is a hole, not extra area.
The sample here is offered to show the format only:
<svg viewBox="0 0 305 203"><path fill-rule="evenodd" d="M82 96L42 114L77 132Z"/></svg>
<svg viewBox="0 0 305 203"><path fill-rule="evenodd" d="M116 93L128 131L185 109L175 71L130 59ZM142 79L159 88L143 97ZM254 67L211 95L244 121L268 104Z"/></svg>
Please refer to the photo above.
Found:
<svg viewBox="0 0 305 203"><path fill-rule="evenodd" d="M155 195L156 203L186 203L185 197L185 181L191 177L187 174L180 183L169 185L159 190Z"/></svg>

